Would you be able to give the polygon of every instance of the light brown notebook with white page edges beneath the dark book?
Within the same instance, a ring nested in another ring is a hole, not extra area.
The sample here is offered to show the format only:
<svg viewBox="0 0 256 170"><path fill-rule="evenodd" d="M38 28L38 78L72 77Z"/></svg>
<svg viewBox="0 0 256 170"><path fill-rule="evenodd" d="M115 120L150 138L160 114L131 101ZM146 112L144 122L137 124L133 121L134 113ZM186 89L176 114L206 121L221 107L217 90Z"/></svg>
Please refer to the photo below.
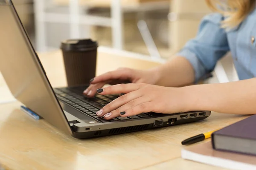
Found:
<svg viewBox="0 0 256 170"><path fill-rule="evenodd" d="M181 157L227 169L256 170L256 156L214 150L211 142L185 147Z"/></svg>

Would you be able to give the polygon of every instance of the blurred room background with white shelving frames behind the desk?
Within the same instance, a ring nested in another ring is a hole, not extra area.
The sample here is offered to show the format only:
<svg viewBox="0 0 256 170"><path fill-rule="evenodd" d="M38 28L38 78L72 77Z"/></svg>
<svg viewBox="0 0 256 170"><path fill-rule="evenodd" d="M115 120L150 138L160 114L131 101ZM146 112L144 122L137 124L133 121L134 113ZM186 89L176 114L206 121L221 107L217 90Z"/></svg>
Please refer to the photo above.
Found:
<svg viewBox="0 0 256 170"><path fill-rule="evenodd" d="M100 46L167 59L195 37L205 0L13 0L39 52L62 40L91 38ZM237 80L230 55L210 83Z"/></svg>

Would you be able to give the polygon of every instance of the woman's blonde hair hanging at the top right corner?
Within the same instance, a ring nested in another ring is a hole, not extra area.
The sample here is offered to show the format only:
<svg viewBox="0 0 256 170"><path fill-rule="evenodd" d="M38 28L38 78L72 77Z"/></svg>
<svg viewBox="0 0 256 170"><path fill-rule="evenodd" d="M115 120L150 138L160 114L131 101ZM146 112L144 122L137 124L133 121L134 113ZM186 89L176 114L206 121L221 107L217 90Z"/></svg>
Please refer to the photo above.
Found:
<svg viewBox="0 0 256 170"><path fill-rule="evenodd" d="M233 28L238 26L253 11L256 0L226 0L225 3L223 0L206 0L206 2L213 11L224 15L223 28Z"/></svg>

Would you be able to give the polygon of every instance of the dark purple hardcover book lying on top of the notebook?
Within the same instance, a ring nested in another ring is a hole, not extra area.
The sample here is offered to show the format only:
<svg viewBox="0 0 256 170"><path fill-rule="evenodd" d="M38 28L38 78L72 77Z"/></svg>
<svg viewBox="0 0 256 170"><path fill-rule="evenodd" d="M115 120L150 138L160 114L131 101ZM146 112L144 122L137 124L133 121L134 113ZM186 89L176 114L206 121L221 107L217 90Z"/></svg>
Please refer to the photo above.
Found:
<svg viewBox="0 0 256 170"><path fill-rule="evenodd" d="M256 115L212 133L212 147L256 155Z"/></svg>

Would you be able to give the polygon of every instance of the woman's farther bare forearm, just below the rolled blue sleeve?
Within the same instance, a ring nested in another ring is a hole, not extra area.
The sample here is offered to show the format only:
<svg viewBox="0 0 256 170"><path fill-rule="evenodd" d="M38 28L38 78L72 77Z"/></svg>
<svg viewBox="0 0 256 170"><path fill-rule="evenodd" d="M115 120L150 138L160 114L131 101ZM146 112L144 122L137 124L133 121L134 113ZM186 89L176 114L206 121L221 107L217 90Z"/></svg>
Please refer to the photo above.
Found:
<svg viewBox="0 0 256 170"><path fill-rule="evenodd" d="M159 74L156 85L166 87L181 87L194 82L195 73L190 62L184 57L173 57L165 64L154 68Z"/></svg>

